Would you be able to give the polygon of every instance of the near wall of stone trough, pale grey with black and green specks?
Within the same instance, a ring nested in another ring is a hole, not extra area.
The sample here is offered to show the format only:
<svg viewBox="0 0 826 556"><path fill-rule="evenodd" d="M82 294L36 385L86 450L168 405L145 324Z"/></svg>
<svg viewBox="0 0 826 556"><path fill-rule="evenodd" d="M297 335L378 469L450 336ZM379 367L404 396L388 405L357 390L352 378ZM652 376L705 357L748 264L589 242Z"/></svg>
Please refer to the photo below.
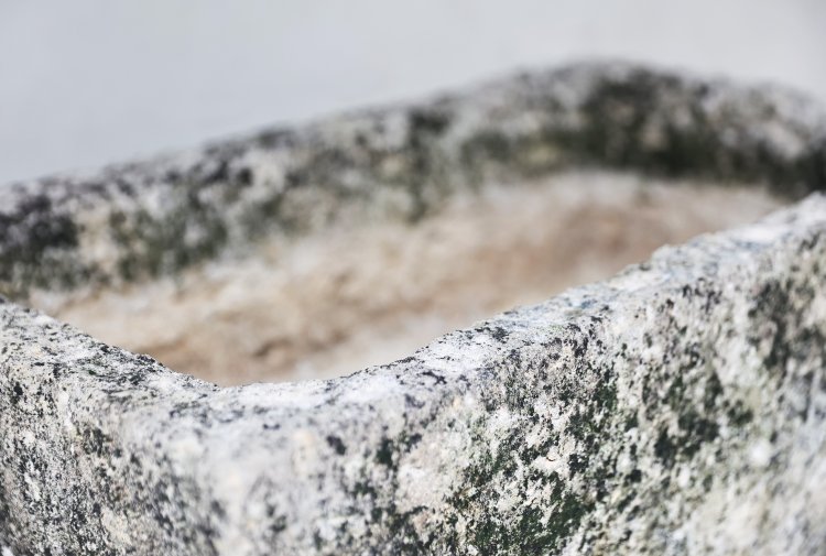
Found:
<svg viewBox="0 0 826 556"><path fill-rule="evenodd" d="M218 389L0 305L26 554L819 554L826 199L349 378Z"/></svg>

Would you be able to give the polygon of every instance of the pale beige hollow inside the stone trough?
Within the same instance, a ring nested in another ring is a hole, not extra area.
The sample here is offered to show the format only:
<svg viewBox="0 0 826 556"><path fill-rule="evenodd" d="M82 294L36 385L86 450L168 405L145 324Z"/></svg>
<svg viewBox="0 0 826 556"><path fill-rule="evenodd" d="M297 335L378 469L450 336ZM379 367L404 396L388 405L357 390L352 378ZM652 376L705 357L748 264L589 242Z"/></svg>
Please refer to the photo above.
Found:
<svg viewBox="0 0 826 556"><path fill-rule="evenodd" d="M416 224L273 239L175 280L34 302L219 384L330 378L781 204L756 186L567 173L489 186Z"/></svg>

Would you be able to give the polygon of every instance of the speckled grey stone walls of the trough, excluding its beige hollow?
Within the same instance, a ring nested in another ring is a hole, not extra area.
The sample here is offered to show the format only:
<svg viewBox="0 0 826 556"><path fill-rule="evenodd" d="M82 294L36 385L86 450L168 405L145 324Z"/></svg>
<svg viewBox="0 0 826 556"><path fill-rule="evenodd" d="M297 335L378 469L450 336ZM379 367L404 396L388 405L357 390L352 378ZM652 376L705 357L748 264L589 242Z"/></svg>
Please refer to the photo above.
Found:
<svg viewBox="0 0 826 556"><path fill-rule="evenodd" d="M325 382L217 388L19 304L296 215L415 220L479 175L604 164L801 196L826 183L820 115L590 65L0 189L2 555L822 554L817 193Z"/></svg>

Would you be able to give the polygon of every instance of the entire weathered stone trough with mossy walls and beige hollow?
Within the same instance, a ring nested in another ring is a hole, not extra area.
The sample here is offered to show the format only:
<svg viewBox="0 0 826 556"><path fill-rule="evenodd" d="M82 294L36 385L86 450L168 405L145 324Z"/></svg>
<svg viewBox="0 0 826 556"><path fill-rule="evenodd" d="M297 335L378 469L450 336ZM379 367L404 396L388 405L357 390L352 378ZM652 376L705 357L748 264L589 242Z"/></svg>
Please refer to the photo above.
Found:
<svg viewBox="0 0 826 556"><path fill-rule="evenodd" d="M0 554L823 554L824 187L613 63L2 187Z"/></svg>

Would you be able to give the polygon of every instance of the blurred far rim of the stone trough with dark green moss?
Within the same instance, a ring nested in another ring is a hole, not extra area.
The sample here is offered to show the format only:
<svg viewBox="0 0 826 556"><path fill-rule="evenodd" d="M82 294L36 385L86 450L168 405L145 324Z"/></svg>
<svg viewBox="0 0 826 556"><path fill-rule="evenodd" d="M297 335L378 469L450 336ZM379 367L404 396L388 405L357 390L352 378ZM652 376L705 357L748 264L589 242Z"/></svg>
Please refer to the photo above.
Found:
<svg viewBox="0 0 826 556"><path fill-rule="evenodd" d="M72 291L237 257L262 236L415 221L486 181L570 166L826 184L820 106L622 64L525 74L442 98L272 129L85 176L0 187L0 294Z"/></svg>

